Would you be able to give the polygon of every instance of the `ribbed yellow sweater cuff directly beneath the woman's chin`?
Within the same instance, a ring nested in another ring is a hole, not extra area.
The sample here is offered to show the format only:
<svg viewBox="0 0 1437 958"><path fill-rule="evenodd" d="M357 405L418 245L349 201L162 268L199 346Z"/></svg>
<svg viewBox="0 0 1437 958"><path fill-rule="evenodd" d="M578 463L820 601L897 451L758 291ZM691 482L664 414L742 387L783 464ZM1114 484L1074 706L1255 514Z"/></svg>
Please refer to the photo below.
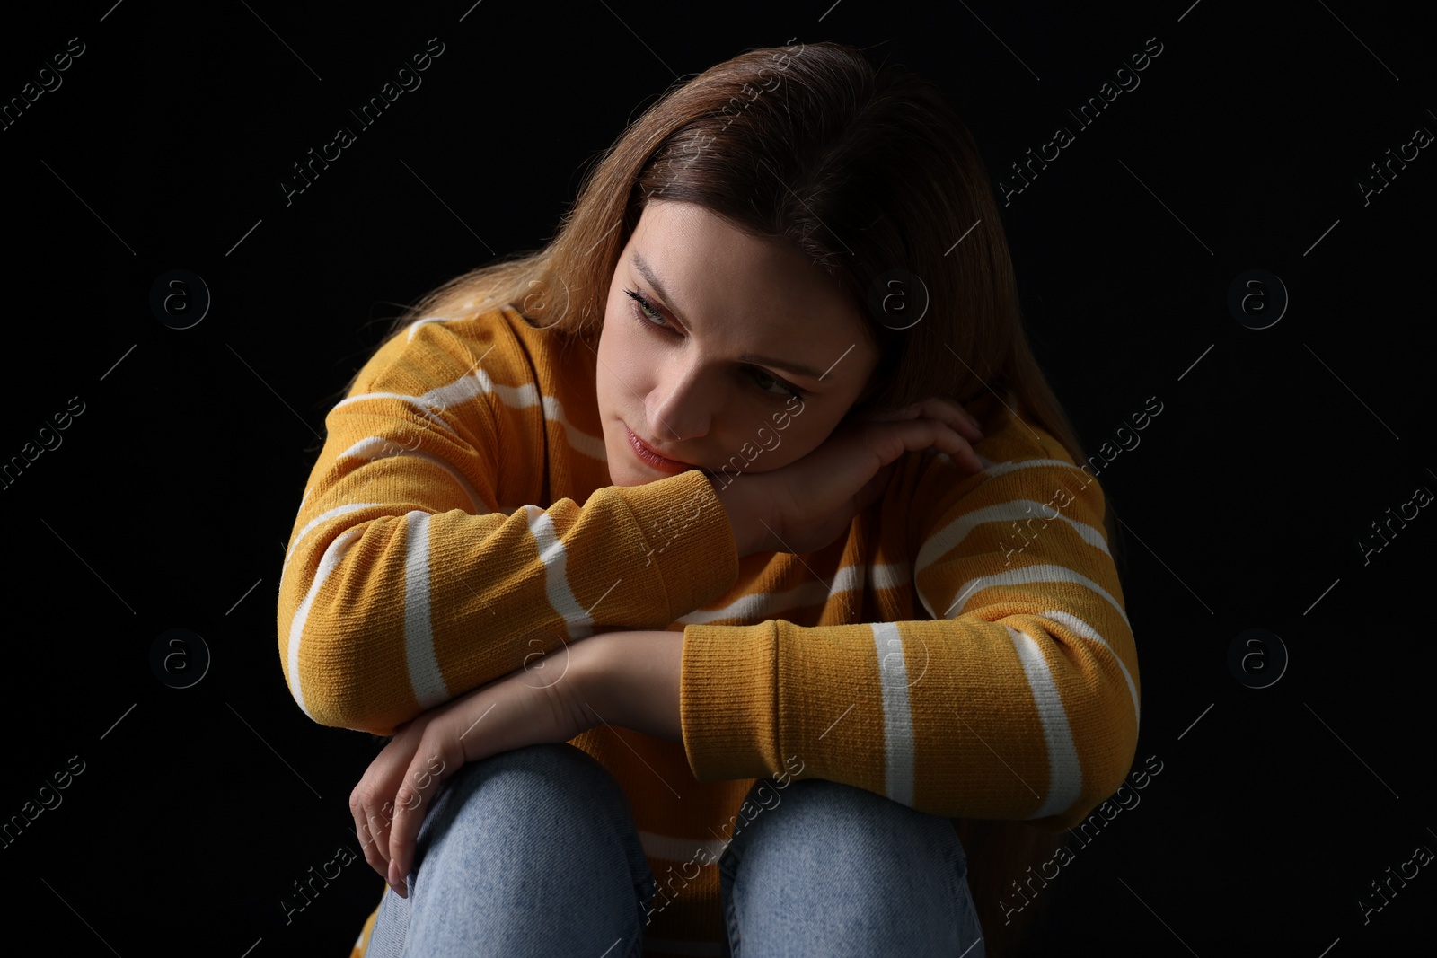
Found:
<svg viewBox="0 0 1437 958"><path fill-rule="evenodd" d="M614 485L647 543L645 566L655 566L673 615L685 616L729 592L739 580L733 523L698 470L644 485Z"/></svg>

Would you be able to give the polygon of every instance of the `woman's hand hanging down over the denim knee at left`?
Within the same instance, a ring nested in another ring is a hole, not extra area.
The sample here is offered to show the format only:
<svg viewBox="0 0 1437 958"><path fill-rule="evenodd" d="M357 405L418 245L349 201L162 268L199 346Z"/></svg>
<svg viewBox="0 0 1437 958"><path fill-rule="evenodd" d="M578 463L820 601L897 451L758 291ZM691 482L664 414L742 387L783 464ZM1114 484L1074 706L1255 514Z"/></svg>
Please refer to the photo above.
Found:
<svg viewBox="0 0 1437 958"><path fill-rule="evenodd" d="M399 725L349 794L365 859L399 896L420 823L441 781L466 761L565 743L599 724L585 702L592 646L575 642Z"/></svg>

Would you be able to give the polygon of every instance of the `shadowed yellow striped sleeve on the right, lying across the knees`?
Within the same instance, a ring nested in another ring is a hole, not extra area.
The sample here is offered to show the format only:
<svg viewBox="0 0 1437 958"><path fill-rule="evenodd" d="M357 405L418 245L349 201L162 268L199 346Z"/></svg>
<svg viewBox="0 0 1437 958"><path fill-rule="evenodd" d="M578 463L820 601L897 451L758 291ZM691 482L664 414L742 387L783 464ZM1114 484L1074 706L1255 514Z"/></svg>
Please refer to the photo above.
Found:
<svg viewBox="0 0 1437 958"><path fill-rule="evenodd" d="M895 583L925 616L685 626L681 720L700 781L802 768L930 814L1048 829L1122 784L1138 664L1104 496L1033 437L1010 421L980 444L994 458L977 475L927 458Z"/></svg>

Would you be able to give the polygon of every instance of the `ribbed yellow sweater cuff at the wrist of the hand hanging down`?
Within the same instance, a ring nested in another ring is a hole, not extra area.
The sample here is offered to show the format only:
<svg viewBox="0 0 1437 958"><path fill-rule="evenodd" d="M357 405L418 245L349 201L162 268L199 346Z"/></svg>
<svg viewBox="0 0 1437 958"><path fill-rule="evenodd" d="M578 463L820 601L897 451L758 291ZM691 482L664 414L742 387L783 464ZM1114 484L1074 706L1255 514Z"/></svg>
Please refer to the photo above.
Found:
<svg viewBox="0 0 1437 958"><path fill-rule="evenodd" d="M697 781L779 774L777 622L688 625L680 671L684 753Z"/></svg>

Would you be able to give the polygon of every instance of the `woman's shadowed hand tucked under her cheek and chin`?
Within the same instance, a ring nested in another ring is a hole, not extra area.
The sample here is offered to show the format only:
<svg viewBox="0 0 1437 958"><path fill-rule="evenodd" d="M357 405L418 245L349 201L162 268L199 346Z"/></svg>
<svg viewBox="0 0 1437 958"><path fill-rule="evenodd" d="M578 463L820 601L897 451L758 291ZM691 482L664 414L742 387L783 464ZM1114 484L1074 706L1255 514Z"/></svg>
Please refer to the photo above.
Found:
<svg viewBox="0 0 1437 958"><path fill-rule="evenodd" d="M904 452L937 448L960 468L983 470L973 442L983 429L969 412L938 396L895 412L845 419L816 450L767 473L739 477L724 504L734 520L740 557L749 552L805 553L848 529L887 485ZM739 491L739 487L744 487Z"/></svg>

